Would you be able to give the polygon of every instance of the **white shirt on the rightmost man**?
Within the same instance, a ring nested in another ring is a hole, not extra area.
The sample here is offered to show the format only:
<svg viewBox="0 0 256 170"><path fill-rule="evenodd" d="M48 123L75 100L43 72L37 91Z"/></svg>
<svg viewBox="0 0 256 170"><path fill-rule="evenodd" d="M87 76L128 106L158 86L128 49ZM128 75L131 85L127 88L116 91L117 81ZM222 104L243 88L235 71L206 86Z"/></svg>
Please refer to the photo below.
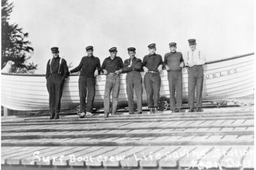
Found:
<svg viewBox="0 0 256 170"><path fill-rule="evenodd" d="M205 56L201 50L189 50L184 58L184 61L188 64L196 63L196 65L204 65L205 64Z"/></svg>

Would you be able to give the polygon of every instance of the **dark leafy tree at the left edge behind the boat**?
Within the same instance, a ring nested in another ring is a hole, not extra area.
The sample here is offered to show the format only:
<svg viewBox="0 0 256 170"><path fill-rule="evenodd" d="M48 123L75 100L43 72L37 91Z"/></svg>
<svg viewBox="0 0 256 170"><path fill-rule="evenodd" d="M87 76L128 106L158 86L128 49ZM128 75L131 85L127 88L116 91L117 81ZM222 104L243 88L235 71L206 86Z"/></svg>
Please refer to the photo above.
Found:
<svg viewBox="0 0 256 170"><path fill-rule="evenodd" d="M13 3L8 3L8 0L2 0L1 3L1 69L6 65L7 61L11 60L15 63L12 66L12 72L34 73L37 65L33 62L28 63L34 51L33 47L31 47L31 42L27 40L28 33L23 33L22 28L20 28L18 24L10 24L10 13L13 9Z"/></svg>

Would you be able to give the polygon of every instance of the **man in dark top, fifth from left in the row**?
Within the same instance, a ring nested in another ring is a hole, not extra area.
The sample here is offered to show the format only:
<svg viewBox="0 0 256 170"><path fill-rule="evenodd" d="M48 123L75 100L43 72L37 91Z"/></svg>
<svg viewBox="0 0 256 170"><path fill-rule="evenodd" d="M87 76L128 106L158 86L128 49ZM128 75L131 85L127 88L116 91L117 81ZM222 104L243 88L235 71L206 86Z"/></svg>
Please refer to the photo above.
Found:
<svg viewBox="0 0 256 170"><path fill-rule="evenodd" d="M148 107L151 113L156 113L159 93L161 87L161 77L159 72L163 69L162 56L156 54L156 43L148 45L149 54L143 58L143 70L145 72L144 85L147 92Z"/></svg>

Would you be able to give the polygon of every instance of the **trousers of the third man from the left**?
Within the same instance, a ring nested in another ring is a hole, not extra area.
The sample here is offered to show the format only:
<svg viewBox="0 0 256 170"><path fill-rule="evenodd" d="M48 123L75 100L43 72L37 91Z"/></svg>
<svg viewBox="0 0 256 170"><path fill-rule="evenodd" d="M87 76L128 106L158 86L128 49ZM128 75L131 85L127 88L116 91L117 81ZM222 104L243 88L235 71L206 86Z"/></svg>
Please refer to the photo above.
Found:
<svg viewBox="0 0 256 170"><path fill-rule="evenodd" d="M119 75L106 76L106 85L104 93L104 113L109 113L110 111L110 94L112 91L112 114L116 113L118 95L120 88L120 77Z"/></svg>

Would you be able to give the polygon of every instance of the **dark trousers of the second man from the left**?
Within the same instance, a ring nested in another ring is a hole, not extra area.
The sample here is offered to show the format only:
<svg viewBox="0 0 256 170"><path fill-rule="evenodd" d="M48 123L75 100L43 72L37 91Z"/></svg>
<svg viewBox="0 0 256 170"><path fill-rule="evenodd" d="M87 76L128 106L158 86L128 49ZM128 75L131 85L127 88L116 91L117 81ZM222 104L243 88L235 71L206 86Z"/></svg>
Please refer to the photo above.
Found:
<svg viewBox="0 0 256 170"><path fill-rule="evenodd" d="M92 112L93 100L95 97L95 77L86 77L83 75L79 76L79 97L80 97L80 108L81 112ZM87 108L86 108L86 95L87 97Z"/></svg>

